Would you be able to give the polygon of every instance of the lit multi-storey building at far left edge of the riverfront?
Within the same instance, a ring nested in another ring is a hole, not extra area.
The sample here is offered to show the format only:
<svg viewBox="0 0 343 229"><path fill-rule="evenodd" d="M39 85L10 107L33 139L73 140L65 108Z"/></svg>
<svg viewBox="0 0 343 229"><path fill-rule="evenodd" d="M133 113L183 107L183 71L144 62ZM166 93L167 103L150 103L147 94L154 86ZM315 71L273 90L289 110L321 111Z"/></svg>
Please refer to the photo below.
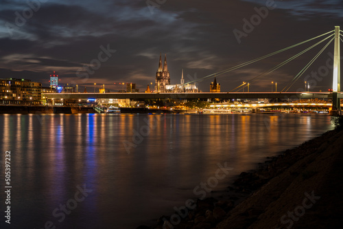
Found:
<svg viewBox="0 0 343 229"><path fill-rule="evenodd" d="M20 105L42 104L42 84L27 79L0 79L0 103Z"/></svg>

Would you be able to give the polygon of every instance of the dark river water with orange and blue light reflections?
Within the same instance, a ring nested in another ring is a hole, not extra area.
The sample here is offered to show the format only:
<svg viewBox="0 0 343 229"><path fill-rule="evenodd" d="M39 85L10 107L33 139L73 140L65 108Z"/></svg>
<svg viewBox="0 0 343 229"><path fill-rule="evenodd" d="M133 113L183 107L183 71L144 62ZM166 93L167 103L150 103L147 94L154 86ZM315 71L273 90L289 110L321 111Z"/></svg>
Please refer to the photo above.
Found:
<svg viewBox="0 0 343 229"><path fill-rule="evenodd" d="M46 114L1 115L0 127L0 228L134 229L201 197L194 188L218 164L233 169L211 190L333 124L318 114Z"/></svg>

